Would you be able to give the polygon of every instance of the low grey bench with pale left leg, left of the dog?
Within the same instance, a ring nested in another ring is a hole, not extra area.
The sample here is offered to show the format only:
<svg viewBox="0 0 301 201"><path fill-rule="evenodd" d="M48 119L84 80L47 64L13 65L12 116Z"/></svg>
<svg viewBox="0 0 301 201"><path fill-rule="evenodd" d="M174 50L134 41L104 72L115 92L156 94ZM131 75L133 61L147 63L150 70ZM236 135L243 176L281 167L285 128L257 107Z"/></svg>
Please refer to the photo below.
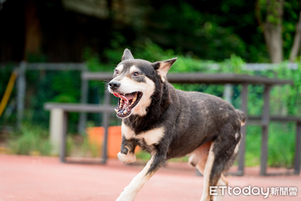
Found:
<svg viewBox="0 0 301 201"><path fill-rule="evenodd" d="M110 94L108 94L110 95ZM108 98L106 98L108 99ZM109 103L109 101L107 101ZM53 146L54 154L60 156L61 162L66 161L66 135L68 125L68 113L103 113L102 126L104 127L104 145L102 162L105 163L107 159L107 137L109 127L109 113L114 112L115 106L111 105L97 105L97 104L62 104L62 103L46 103L44 109L50 111L50 141Z"/></svg>

